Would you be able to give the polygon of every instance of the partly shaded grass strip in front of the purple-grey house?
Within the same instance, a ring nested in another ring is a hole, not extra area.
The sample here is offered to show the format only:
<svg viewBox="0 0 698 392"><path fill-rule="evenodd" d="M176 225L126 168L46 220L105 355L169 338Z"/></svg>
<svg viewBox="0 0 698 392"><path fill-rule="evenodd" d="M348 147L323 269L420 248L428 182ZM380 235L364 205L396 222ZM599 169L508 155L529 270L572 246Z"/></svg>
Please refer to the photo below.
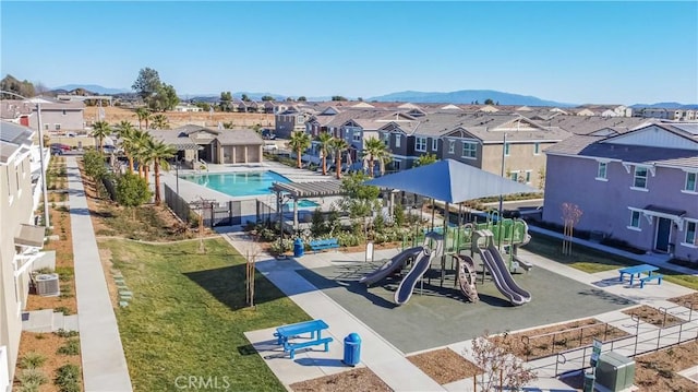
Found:
<svg viewBox="0 0 698 392"><path fill-rule="evenodd" d="M595 249L580 245L573 246L573 254L562 254L562 240L547 237L542 234L533 234L531 241L524 248L531 253L540 254L559 263L567 264L577 270L595 273L607 270L621 269L628 265L640 264L638 261L619 256L604 253ZM669 282L698 290L698 277L686 275L671 270L659 271Z"/></svg>

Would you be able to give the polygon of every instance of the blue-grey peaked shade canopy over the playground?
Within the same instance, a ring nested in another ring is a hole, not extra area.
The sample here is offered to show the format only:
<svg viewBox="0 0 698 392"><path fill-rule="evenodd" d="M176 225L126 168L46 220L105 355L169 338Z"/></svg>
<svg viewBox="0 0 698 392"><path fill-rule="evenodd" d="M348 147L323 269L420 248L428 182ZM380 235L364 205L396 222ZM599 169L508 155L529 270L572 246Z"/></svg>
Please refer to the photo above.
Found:
<svg viewBox="0 0 698 392"><path fill-rule="evenodd" d="M447 203L539 190L454 159L374 178L366 185L399 189Z"/></svg>

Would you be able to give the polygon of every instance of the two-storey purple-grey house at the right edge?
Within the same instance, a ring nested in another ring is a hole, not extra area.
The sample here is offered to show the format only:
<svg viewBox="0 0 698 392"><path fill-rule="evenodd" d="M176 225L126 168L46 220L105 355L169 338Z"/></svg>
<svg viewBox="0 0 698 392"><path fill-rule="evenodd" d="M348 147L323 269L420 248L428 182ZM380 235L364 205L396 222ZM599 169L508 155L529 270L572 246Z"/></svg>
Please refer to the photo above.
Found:
<svg viewBox="0 0 698 392"><path fill-rule="evenodd" d="M562 225L561 206L573 203L576 229L698 260L698 123L574 135L545 154L544 221Z"/></svg>

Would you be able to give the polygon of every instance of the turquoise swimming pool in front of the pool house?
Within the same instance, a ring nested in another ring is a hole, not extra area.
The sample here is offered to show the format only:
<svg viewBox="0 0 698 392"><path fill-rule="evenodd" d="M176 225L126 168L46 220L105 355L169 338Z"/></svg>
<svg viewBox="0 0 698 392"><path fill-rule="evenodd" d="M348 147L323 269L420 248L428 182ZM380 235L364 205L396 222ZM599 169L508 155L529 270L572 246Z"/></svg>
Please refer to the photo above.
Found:
<svg viewBox="0 0 698 392"><path fill-rule="evenodd" d="M231 197L272 194L274 182L289 183L291 180L275 171L220 173L181 176L181 179Z"/></svg>

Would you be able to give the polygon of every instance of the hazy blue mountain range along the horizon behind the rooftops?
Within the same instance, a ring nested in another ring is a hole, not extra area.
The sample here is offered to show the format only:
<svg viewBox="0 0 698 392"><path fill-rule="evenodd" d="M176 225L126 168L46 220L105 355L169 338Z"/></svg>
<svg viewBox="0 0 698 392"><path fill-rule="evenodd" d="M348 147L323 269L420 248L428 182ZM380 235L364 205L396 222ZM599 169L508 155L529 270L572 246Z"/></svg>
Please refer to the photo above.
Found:
<svg viewBox="0 0 698 392"><path fill-rule="evenodd" d="M67 84L62 86L55 87L53 90L62 90L62 91L72 91L75 88L84 88L88 92L95 94L104 94L104 95L117 95L117 94L128 94L133 93L130 88L110 88L104 87L97 84ZM274 94L274 93L251 93L251 92L238 92L233 93L232 96L240 99L242 95L246 95L253 100L260 100L263 96L272 96L276 100L285 100L287 98L286 95ZM188 94L186 96L180 96L181 99L185 100L201 100L201 102L217 102L220 93L218 94ZM317 96L317 97L308 97L308 100L311 102L323 102L330 100L329 96ZM484 104L486 99L492 99L494 103L500 105L527 105L527 106L554 106L554 107L574 107L579 106L579 104L570 104L570 103L561 103L549 99L541 99L539 97L534 97L531 95L519 95L519 94L510 94L498 92L494 90L461 90L448 93L440 93L440 92L417 92L417 91L405 91L398 93L390 93L386 95L364 98L366 102L409 102L409 103L422 103L422 104L472 104L479 103ZM698 109L698 105L690 104L684 105L675 102L667 103L655 103L655 104L635 104L630 106L631 108L666 108L666 109Z"/></svg>

